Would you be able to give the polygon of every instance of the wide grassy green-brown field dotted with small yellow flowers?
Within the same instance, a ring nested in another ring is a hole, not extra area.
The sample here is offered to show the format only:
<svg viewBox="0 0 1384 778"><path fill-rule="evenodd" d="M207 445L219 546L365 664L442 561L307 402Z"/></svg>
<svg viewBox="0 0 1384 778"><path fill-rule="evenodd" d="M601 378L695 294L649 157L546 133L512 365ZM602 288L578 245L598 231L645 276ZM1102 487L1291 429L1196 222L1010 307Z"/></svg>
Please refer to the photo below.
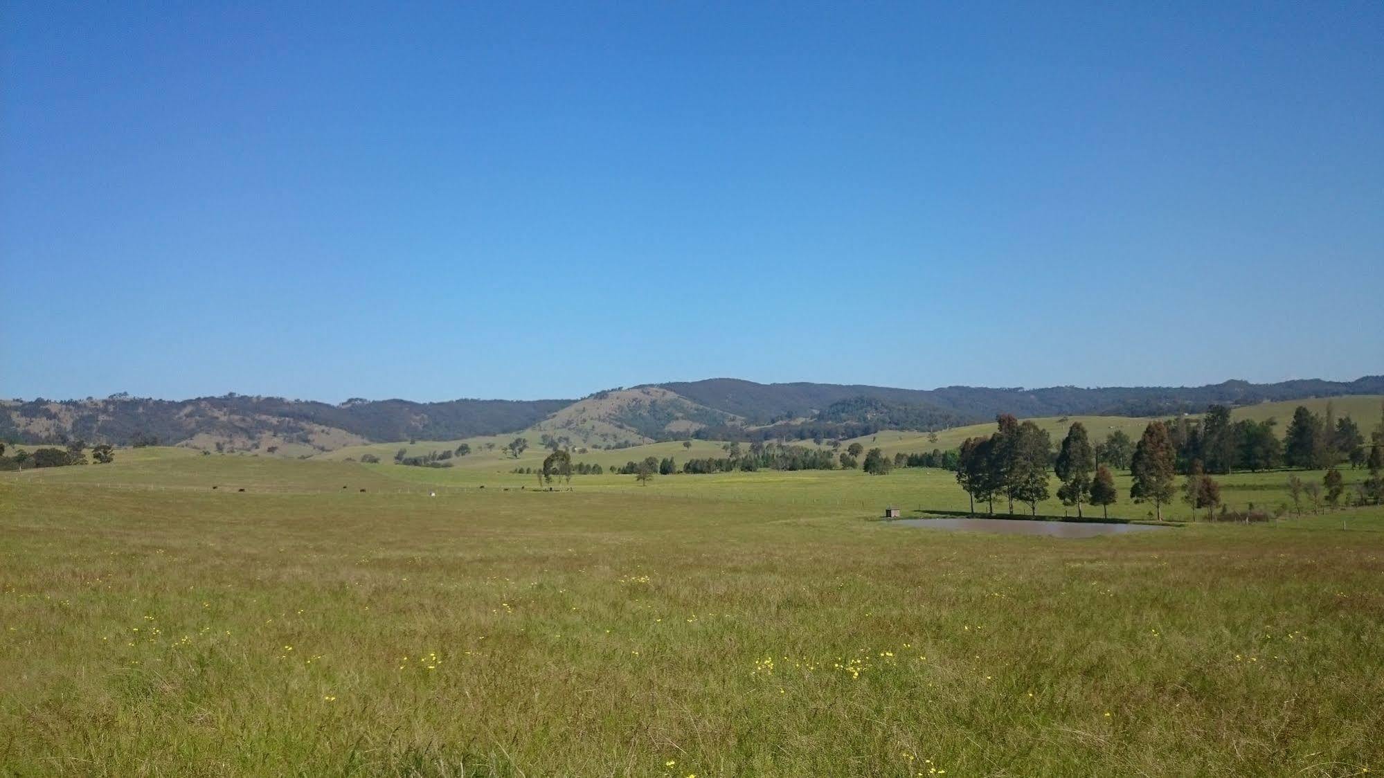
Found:
<svg viewBox="0 0 1384 778"><path fill-rule="evenodd" d="M873 521L940 471L494 469L0 473L0 774L1384 770L1380 508L1055 540Z"/></svg>

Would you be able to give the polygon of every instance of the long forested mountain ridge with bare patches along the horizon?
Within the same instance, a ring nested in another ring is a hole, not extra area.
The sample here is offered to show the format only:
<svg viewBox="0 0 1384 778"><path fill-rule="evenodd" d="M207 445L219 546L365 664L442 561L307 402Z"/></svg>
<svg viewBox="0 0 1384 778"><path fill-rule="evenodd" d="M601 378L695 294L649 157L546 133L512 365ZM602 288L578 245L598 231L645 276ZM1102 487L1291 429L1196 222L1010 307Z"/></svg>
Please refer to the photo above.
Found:
<svg viewBox="0 0 1384 778"><path fill-rule="evenodd" d="M1017 417L1200 413L1212 403L1384 395L1384 375L1356 381L1207 386L898 389L840 383L756 383L735 378L646 383L581 400L352 399L340 404L226 395L191 400L112 396L104 400L0 401L0 440L18 443L163 444L310 454L363 442L455 440L549 435L614 447L682 437L836 437L879 429L943 429Z"/></svg>

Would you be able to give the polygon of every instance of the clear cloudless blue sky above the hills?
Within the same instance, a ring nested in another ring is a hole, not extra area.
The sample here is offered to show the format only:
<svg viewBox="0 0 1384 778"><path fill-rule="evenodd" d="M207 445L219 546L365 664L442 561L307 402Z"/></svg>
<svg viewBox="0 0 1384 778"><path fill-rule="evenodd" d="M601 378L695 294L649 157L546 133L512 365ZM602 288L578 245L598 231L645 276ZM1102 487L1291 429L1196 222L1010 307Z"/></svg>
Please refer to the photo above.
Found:
<svg viewBox="0 0 1384 778"><path fill-rule="evenodd" d="M0 396L1384 372L1384 4L4 1Z"/></svg>

